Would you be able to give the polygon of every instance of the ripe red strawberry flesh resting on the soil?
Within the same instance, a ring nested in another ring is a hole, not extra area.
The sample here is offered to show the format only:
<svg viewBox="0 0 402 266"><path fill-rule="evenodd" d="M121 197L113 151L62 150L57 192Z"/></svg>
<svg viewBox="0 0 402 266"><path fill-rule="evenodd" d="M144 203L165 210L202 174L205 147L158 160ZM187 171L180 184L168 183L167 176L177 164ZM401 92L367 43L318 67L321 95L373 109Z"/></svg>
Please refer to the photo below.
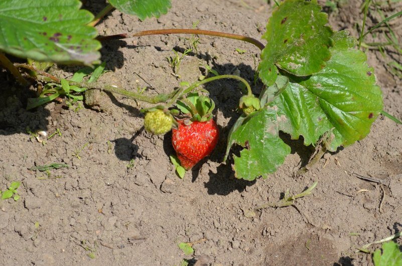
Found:
<svg viewBox="0 0 402 266"><path fill-rule="evenodd" d="M218 142L218 127L213 119L194 121L185 125L178 120L179 128L173 129L172 144L184 169L189 170L208 156Z"/></svg>

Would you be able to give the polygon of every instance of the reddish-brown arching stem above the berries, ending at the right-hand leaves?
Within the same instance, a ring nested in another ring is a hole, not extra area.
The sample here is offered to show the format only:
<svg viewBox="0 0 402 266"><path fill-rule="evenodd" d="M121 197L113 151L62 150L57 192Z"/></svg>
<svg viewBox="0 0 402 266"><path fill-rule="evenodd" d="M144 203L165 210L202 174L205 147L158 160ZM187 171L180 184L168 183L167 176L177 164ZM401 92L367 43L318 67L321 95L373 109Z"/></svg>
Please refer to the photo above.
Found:
<svg viewBox="0 0 402 266"><path fill-rule="evenodd" d="M132 35L128 35L127 33L110 35L110 36L98 36L96 39L98 41L106 41L106 40L119 40L126 39L131 37L139 37L146 35L157 35L157 34L196 34L196 35L208 35L208 36L216 36L229 38L234 40L240 40L247 43L251 43L258 47L260 50L264 49L264 45L258 40L237 34L224 33L224 32L214 32L214 31L205 31L205 30L197 30L197 29L166 29L166 30L150 30L150 31L141 31Z"/></svg>

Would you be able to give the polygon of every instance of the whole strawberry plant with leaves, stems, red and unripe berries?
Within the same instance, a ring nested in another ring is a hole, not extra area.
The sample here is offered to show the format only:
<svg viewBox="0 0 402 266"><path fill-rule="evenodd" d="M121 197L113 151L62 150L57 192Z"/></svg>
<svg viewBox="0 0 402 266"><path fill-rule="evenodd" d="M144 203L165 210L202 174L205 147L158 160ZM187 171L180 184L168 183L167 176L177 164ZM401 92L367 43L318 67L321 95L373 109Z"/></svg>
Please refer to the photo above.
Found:
<svg viewBox="0 0 402 266"><path fill-rule="evenodd" d="M208 92L198 87L217 79L237 79L247 88L246 95L239 99L237 107L241 114L229 131L223 158L223 162L233 162L232 168L239 179L266 178L283 164L291 149L280 138L280 131L294 140L302 137L306 146L318 146L322 155L365 138L382 111L382 94L376 85L374 69L358 50L357 40L346 31L335 32L328 27L327 15L321 12L316 0L286 0L278 4L262 35L266 46L250 37L198 29L150 30L99 36L95 40L92 25L111 6L94 19L88 12L78 11L80 5L75 0L37 3L37 12L31 18L38 26L35 29L13 26L24 25L19 16L27 16L23 11L32 8L30 2L6 0L0 4L0 32L3 33L0 50L35 60L90 64L99 58L98 41L154 34L211 35L245 41L261 49L258 76L264 86L258 95L253 94L244 79L233 75L203 77L192 85L182 83L171 93L147 96L82 79L61 81L32 65L18 65L34 70L37 80L60 84L49 85L59 94L64 92L71 97L76 96L71 93L72 88L75 92L74 88L99 89L155 104L144 110L145 127L153 134L165 134L173 128L172 145L185 169L209 155L216 145L218 131L212 119L215 104ZM109 3L140 19L158 16L170 5L167 0L110 0ZM13 9L17 13L10 15L11 6L17 7ZM59 12L61 6L68 15ZM69 27L65 18L69 19ZM54 27L50 28L49 22ZM0 57L0 62L22 80L7 58ZM242 149L229 159L234 145Z"/></svg>

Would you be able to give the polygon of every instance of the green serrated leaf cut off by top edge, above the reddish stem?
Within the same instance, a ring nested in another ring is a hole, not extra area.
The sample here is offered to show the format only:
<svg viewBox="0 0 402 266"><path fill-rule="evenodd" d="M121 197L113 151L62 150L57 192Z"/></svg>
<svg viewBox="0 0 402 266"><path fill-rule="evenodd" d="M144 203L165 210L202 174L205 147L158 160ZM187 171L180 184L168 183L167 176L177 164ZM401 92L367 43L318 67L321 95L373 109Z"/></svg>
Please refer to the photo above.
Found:
<svg viewBox="0 0 402 266"><path fill-rule="evenodd" d="M171 8L170 0L109 0L110 5L128 15L136 15L140 20L147 17L159 18Z"/></svg>

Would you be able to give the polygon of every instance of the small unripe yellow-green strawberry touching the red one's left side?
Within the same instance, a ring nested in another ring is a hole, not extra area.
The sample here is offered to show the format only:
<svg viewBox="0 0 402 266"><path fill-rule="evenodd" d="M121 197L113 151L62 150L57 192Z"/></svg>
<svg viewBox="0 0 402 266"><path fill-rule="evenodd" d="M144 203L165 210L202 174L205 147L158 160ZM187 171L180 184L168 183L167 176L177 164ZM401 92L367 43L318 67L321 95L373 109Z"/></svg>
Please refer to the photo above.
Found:
<svg viewBox="0 0 402 266"><path fill-rule="evenodd" d="M155 135L161 135L172 129L173 117L163 110L157 109L145 114L144 126L148 132Z"/></svg>

